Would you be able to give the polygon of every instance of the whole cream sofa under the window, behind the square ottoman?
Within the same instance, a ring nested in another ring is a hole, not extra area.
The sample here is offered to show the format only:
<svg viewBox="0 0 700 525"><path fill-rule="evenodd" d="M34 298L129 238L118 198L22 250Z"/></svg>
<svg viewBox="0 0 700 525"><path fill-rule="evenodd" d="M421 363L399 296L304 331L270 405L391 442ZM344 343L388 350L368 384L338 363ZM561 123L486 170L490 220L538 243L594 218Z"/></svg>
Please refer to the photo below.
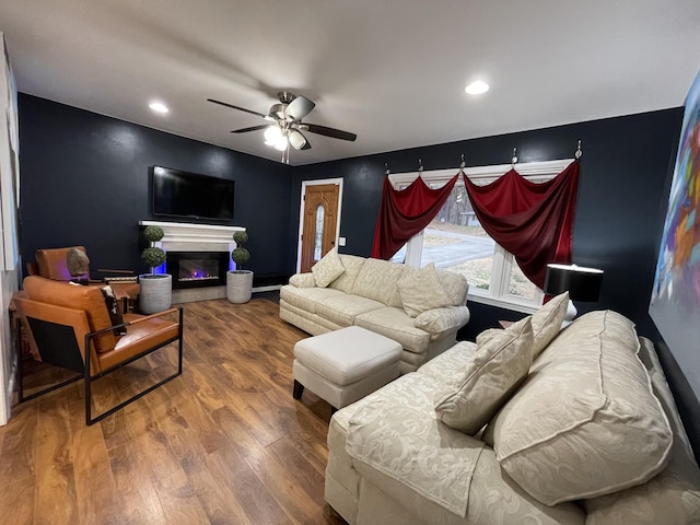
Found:
<svg viewBox="0 0 700 525"><path fill-rule="evenodd" d="M455 343L469 320L464 276L386 260L325 255L280 290L280 317L314 336L361 326L404 347L401 373Z"/></svg>

